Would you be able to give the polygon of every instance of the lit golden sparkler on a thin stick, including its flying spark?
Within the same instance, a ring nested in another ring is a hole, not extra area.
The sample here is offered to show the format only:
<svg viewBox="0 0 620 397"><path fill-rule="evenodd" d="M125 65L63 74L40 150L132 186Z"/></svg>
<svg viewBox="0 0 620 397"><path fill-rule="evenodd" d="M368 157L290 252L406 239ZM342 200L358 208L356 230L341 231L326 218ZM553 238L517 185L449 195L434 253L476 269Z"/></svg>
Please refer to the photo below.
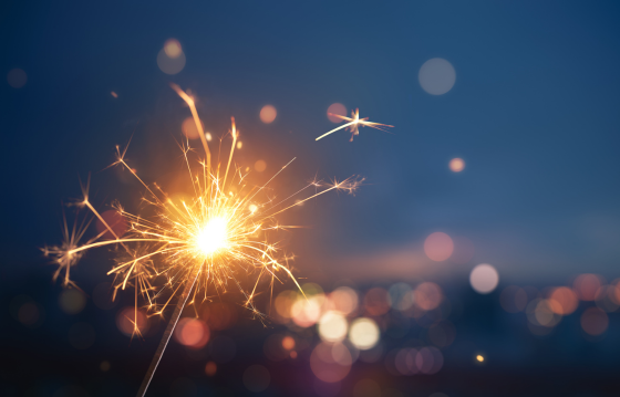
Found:
<svg viewBox="0 0 620 397"><path fill-rule="evenodd" d="M79 208L87 208L101 221L105 230L91 240L80 243L90 222L75 223L70 232L65 221L64 242L61 245L43 250L58 265L54 279L64 272L63 284L75 286L70 279L70 270L86 251L101 247L118 248L121 254L117 263L107 274L114 275L114 296L118 290L133 288L135 291L134 334L140 335L138 295L144 300L151 315L162 316L173 299L178 296L138 396L146 393L183 309L187 304L207 301L209 284L215 285L217 291L225 291L229 283L235 284L244 295L244 305L257 316L262 316L262 314L255 307L254 299L262 278L270 278L272 288L273 281L280 281L283 275L290 278L301 290L291 273L289 265L291 257L283 254L279 244L272 239L276 230L292 228L279 224L277 216L331 190L352 194L363 181L359 177L329 184L314 180L283 200L261 199L267 195L268 185L292 160L276 173L267 184L255 186L249 182L247 173L237 166L231 168L239 136L232 118L229 132L232 145L226 170L221 175L221 164L211 167L211 153L198 118L194 97L175 84L170 84L170 86L189 106L205 150L204 159L190 161L194 153L189 144L182 145L192 180L193 195L187 199L173 199L156 184L146 184L127 165L125 160L127 148L121 150L117 146L116 161L112 166L126 168L142 184L145 189L143 200L151 215L130 213L120 203L114 203L113 207L117 215L128 222L128 231L124 236L118 236L114 230L114 224L107 222L91 203L86 185L83 189L83 199L75 205ZM351 126L356 130L358 124L374 128L382 126L366 122L365 118L359 119L356 113L354 121L340 128ZM292 202L293 197L299 195L307 197ZM111 233L113 238L106 239L106 232ZM246 291L241 286L238 279L241 274L256 274L251 291L250 289ZM303 291L301 292L303 293Z"/></svg>

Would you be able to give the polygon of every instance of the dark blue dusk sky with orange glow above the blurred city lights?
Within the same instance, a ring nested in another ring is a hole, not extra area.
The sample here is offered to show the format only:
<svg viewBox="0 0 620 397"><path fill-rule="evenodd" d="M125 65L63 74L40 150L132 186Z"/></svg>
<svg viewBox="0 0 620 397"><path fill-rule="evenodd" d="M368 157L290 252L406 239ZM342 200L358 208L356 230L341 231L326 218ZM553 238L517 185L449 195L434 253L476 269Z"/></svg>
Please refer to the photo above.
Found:
<svg viewBox="0 0 620 397"><path fill-rule="evenodd" d="M147 178L176 165L165 143L187 109L174 81L202 98L207 128L224 133L237 117L239 160L262 156L273 170L297 156L287 187L317 173L368 178L355 198L323 197L296 219L313 226L291 242L301 273L337 278L359 265L376 279L395 255L404 276L462 278L480 262L503 282L619 275L617 2L1 7L3 274L41 271L37 248L60 239L60 201L79 196L78 175L95 173L102 203L132 199L99 173L132 133L130 155ZM174 76L156 64L169 38L187 56ZM456 71L444 95L418 83L433 58ZM28 74L19 90L4 79L14 67ZM333 127L334 102L394 134L362 128L353 143L345 133L316 143ZM278 109L268 126L265 104ZM450 171L453 157L465 159L463 173ZM434 231L468 238L475 258L428 261L421 247Z"/></svg>

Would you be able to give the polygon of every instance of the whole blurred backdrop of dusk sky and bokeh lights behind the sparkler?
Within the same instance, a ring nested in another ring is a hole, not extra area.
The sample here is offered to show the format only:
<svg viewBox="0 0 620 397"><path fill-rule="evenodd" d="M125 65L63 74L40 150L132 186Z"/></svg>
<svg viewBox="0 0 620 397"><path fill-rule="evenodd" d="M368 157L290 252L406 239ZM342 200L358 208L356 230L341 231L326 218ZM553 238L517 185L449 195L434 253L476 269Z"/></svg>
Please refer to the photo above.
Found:
<svg viewBox="0 0 620 397"><path fill-rule="evenodd" d="M292 281L183 314L147 396L611 396L620 370L620 4L614 1L0 6L0 395L132 396L165 320L112 302L100 250L52 282L40 248L106 167L178 188L199 147L174 82L236 161L293 192ZM314 138L328 112L395 127ZM226 142L224 142L226 144ZM96 222L85 238L97 233Z"/></svg>

